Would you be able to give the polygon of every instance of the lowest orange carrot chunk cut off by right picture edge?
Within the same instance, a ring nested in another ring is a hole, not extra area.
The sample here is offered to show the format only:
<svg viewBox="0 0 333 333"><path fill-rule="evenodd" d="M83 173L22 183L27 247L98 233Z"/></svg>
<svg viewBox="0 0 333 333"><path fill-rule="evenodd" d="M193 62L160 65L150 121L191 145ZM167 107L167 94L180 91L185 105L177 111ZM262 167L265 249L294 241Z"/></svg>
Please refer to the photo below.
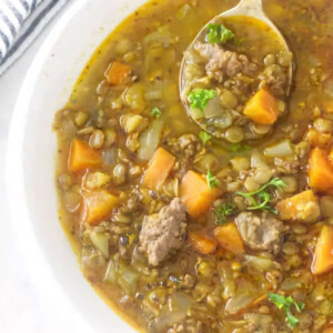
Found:
<svg viewBox="0 0 333 333"><path fill-rule="evenodd" d="M333 269L333 225L324 225L316 241L311 271L322 274Z"/></svg>

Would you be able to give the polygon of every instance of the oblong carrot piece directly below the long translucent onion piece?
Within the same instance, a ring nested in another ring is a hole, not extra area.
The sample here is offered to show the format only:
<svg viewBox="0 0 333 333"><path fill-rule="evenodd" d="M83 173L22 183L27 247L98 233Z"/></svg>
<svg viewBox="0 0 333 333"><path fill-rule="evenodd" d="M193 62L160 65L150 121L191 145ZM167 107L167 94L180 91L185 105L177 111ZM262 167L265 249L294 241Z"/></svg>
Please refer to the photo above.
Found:
<svg viewBox="0 0 333 333"><path fill-rule="evenodd" d="M150 160L142 184L149 189L159 189L172 170L175 158L165 149L159 148Z"/></svg>

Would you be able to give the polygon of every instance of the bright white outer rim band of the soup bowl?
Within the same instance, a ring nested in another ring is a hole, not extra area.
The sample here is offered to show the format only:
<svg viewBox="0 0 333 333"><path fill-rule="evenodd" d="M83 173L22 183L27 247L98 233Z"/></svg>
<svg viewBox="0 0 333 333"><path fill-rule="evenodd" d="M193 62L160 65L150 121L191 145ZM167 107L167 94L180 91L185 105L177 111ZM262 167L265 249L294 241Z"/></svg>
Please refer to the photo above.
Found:
<svg viewBox="0 0 333 333"><path fill-rule="evenodd" d="M73 305L72 309L77 313L73 313L72 315L78 315L85 324L84 327L90 327L91 331L89 332L95 332L97 327L91 326L91 323L93 323L93 320L95 319L93 319L88 311L84 311L84 309L78 309L80 307L77 306L79 304L78 300L72 300L65 293L64 286L60 282L59 278L54 274L52 264L48 261L48 256L44 253L42 245L39 243L37 233L34 231L33 220L30 216L30 208L27 201L27 193L24 191L26 184L23 172L26 139L24 130L29 111L32 107L34 87L37 85L39 77L43 72L43 67L46 65L48 57L51 54L50 52L53 46L64 33L72 18L74 18L80 10L90 2L91 0L74 0L64 8L63 12L60 13L60 18L47 34L44 41L38 48L37 54L29 65L21 88L19 89L9 125L9 135L4 155L4 189L10 224L13 234L13 243L19 250L20 256L22 258L24 271L32 279L36 285L43 284L44 289L52 289L52 294L54 296L58 299L60 297L62 302ZM90 57L91 54L89 54L89 58ZM83 68L81 68L81 71L82 69ZM18 223L20 221L24 223ZM27 251L27 249L29 249L29 251ZM36 272L38 272L38 274L36 274ZM89 284L88 281L84 281L84 283L87 283L87 285ZM97 295L97 297L99 296ZM101 301L102 300L99 300L99 302ZM123 319L119 316L117 312L113 312L113 314L119 320L114 323L117 327L124 329L124 332L133 332L130 325L123 321Z"/></svg>

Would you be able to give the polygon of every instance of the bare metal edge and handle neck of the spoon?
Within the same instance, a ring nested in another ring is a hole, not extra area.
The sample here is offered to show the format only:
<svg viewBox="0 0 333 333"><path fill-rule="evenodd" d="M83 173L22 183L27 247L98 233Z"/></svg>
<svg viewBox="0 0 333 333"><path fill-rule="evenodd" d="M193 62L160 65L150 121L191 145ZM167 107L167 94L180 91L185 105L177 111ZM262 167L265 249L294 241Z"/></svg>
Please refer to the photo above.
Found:
<svg viewBox="0 0 333 333"><path fill-rule="evenodd" d="M202 36L204 36L206 33L206 27L210 23L215 23L216 21L219 21L220 18L231 18L231 17L242 17L242 16L243 17L249 17L249 18L254 18L256 20L260 20L260 21L264 22L276 34L276 39L280 40L281 44L285 48L285 51L290 51L290 48L289 48L284 37L282 36L281 31L276 28L276 26L264 13L263 7L262 7L262 0L241 0L240 3L238 6L235 6L234 8L230 9L228 11L224 11L221 14L216 16L209 23L206 23L206 26L204 26L201 29L201 31L196 34L196 37L194 38L192 43L189 46L186 52L184 53L184 57L183 57L183 60L182 60L181 70L180 70L180 80L179 80L179 82L180 82L179 83L180 84L180 94L181 94L182 103L185 107L185 109L186 109L186 111L190 115L191 115L190 107L189 107L189 103L188 103L186 94L184 94L185 87L186 87L186 80L185 80L185 75L184 75L184 68L186 65L186 56L189 54L189 52L191 51L191 49L193 48L195 42L198 42L199 40L202 40ZM287 87L285 89L286 95L289 95L289 93L290 93L290 88L291 88L291 83L292 83L292 73L293 73L293 63L291 62L290 68L289 68ZM196 121L196 120L194 120L194 121L200 127L202 127L202 124L199 121ZM203 128L203 129L206 131L205 128Z"/></svg>

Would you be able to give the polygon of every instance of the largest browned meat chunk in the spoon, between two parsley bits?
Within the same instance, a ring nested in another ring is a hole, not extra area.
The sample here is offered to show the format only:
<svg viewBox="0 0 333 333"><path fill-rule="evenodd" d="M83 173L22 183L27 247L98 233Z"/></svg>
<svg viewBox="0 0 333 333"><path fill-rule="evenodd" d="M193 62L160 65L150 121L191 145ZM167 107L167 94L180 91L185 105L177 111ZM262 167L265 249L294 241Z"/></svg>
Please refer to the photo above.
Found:
<svg viewBox="0 0 333 333"><path fill-rule="evenodd" d="M251 63L246 56L226 51L216 44L196 42L194 49L206 61L205 71L208 75L218 82L225 78L233 78L238 73L253 75L258 65Z"/></svg>

